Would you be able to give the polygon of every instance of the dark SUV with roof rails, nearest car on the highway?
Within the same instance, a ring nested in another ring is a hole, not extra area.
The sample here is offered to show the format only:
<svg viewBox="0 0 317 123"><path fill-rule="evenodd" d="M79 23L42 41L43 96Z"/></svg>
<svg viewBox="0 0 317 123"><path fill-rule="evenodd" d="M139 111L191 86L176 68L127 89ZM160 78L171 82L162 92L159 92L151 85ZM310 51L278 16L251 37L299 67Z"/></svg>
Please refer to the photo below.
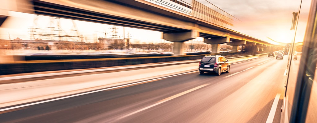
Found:
<svg viewBox="0 0 317 123"><path fill-rule="evenodd" d="M229 73L230 62L221 55L205 55L199 62L199 73L213 72L221 75L222 72Z"/></svg>

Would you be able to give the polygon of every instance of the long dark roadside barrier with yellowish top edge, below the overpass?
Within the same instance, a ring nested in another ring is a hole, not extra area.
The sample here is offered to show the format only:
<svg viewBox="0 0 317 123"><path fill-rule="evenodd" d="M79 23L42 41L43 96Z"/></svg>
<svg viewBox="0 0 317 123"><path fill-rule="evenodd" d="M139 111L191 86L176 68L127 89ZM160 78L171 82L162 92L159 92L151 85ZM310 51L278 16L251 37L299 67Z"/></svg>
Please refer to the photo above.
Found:
<svg viewBox="0 0 317 123"><path fill-rule="evenodd" d="M71 59L71 60L41 60L41 61L18 61L15 63L0 63L0 75L55 71L102 68L135 64L149 64L160 62L199 60L205 55L189 56L166 56L166 57L135 57L135 58L109 58L109 59ZM259 55L227 58L231 62L241 59L254 59Z"/></svg>

